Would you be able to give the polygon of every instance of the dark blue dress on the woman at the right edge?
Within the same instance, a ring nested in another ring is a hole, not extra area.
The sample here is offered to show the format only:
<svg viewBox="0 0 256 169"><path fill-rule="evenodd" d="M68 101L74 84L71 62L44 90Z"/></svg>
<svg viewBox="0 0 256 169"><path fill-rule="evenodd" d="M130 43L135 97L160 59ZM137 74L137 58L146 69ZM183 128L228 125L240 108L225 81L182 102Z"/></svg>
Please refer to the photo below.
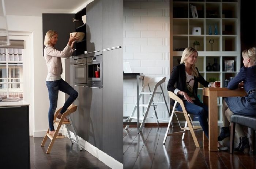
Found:
<svg viewBox="0 0 256 169"><path fill-rule="evenodd" d="M225 98L225 102L235 114L255 116L255 66L240 68L240 72L229 82L227 88L230 90L237 89L241 81L244 81L244 90L248 95L245 97L228 97Z"/></svg>

